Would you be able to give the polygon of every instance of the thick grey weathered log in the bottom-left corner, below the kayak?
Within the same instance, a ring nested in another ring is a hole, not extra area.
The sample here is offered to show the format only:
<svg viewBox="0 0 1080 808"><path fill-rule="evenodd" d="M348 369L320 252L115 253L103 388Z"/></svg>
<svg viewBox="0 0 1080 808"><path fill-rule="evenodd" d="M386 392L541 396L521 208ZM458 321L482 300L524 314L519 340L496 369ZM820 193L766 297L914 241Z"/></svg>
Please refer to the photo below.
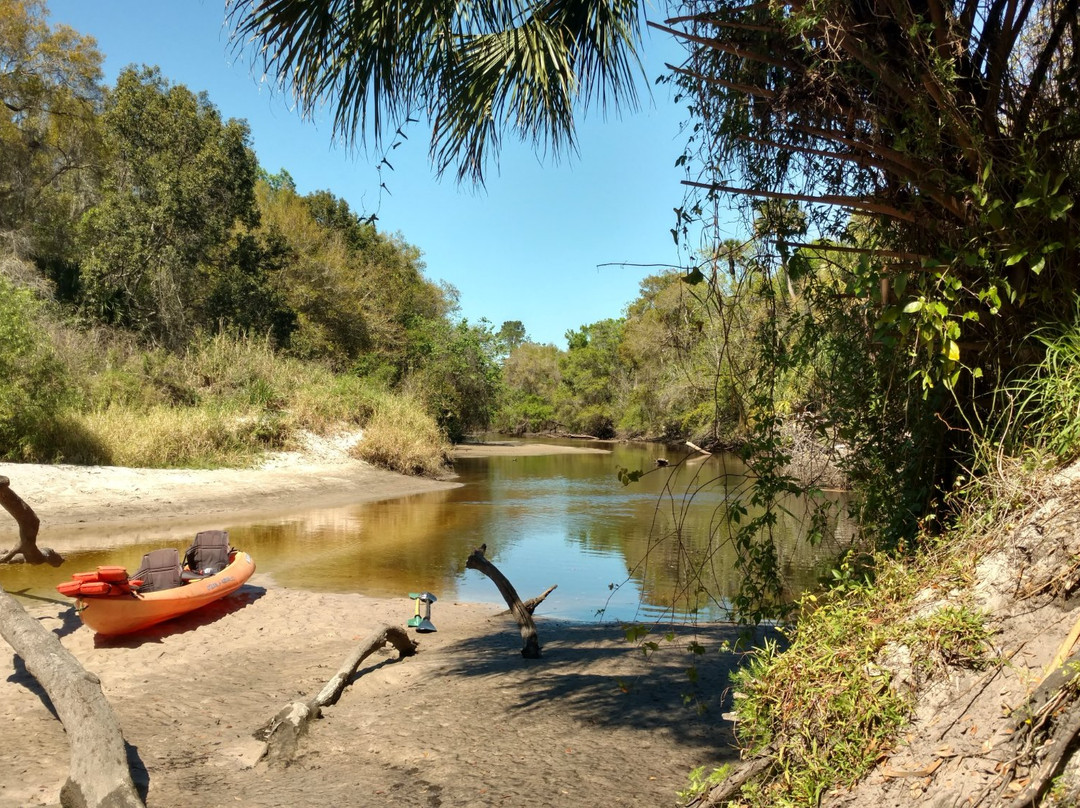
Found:
<svg viewBox="0 0 1080 808"><path fill-rule="evenodd" d="M117 716L97 676L56 635L0 589L0 635L44 688L64 724L71 767L60 789L64 808L143 808L127 768Z"/></svg>

